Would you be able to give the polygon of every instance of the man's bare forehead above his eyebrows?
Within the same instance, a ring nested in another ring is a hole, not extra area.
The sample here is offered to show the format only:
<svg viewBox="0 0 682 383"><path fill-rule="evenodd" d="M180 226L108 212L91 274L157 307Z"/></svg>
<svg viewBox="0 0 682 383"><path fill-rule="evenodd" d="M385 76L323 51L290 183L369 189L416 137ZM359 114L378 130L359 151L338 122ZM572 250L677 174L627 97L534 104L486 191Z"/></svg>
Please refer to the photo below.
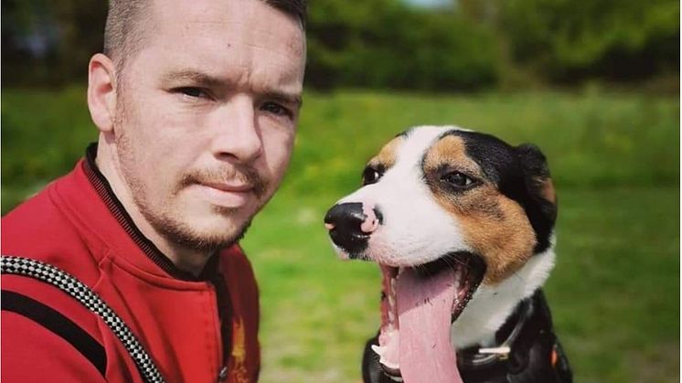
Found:
<svg viewBox="0 0 682 383"><path fill-rule="evenodd" d="M141 55L167 72L195 72L234 84L302 92L304 31L263 0L156 1ZM163 3L163 4L162 4ZM210 80L209 79L209 80ZM270 91L270 90L263 90Z"/></svg>

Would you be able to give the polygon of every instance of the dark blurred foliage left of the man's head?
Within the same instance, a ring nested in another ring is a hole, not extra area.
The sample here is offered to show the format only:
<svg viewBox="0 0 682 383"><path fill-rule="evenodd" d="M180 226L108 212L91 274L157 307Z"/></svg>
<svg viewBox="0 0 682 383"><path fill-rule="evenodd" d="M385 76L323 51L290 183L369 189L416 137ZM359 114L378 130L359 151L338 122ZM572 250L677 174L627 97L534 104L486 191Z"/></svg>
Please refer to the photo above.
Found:
<svg viewBox="0 0 682 383"><path fill-rule="evenodd" d="M85 80L88 61L101 51L107 3L3 1L5 84L45 87Z"/></svg>

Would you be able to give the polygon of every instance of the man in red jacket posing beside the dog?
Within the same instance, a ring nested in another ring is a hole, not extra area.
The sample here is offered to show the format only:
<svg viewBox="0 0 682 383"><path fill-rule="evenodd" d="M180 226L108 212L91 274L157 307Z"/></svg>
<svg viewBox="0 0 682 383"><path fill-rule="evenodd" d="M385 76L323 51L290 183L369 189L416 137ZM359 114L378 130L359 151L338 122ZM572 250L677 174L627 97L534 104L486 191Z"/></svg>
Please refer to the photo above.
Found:
<svg viewBox="0 0 682 383"><path fill-rule="evenodd" d="M304 0L112 1L89 66L98 143L2 220L3 255L87 284L166 381L258 378L258 291L237 242L292 151L304 12ZM3 381L142 381L67 293L2 282Z"/></svg>

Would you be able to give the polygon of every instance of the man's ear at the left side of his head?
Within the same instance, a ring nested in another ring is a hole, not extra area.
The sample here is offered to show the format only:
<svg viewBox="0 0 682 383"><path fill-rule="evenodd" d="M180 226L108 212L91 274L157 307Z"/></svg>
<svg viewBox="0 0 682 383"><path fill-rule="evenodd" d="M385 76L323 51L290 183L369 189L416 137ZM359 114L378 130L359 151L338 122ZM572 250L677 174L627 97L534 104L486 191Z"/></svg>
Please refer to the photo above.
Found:
<svg viewBox="0 0 682 383"><path fill-rule="evenodd" d="M97 53L88 66L88 109L101 133L112 133L116 113L116 69L112 59Z"/></svg>

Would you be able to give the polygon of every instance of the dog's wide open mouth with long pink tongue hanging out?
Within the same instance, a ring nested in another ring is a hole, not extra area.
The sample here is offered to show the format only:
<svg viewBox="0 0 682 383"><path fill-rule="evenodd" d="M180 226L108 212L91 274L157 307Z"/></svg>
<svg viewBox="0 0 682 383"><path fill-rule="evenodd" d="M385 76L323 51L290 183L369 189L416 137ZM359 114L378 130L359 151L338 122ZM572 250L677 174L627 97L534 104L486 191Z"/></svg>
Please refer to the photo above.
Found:
<svg viewBox="0 0 682 383"><path fill-rule="evenodd" d="M410 376L442 381L423 380L424 371L430 370L459 377L450 326L482 281L485 262L472 253L456 252L415 267L380 268L381 332L379 346L372 349L384 372L399 381Z"/></svg>

